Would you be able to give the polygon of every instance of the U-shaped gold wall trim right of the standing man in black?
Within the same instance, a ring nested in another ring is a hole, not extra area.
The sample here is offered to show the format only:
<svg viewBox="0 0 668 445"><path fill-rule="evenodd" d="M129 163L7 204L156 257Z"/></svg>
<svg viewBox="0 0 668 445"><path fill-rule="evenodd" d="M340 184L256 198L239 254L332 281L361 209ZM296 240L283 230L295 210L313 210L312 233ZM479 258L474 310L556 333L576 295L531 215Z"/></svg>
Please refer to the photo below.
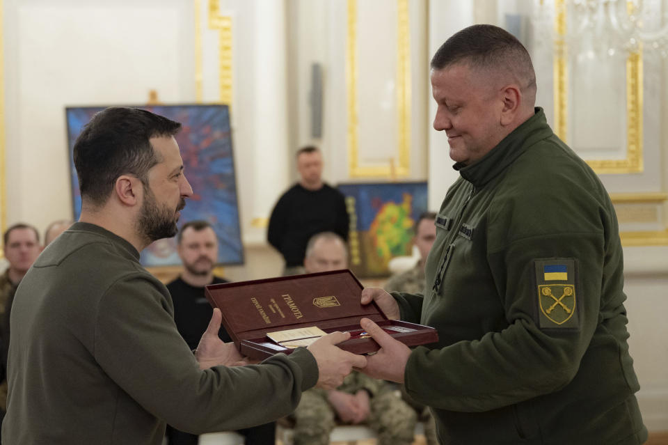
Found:
<svg viewBox="0 0 668 445"><path fill-rule="evenodd" d="M397 0L397 137L399 165L360 165L357 102L357 1L348 0L348 41L346 44L346 84L348 92L348 174L351 178L395 178L411 171L411 24L408 0Z"/></svg>

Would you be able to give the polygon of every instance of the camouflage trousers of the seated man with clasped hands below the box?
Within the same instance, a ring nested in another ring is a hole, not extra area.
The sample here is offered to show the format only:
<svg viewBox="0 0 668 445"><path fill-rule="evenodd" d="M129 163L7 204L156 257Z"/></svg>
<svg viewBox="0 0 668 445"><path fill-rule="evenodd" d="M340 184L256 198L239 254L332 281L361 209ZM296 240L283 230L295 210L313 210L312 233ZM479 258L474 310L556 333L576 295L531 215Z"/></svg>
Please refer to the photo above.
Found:
<svg viewBox="0 0 668 445"><path fill-rule="evenodd" d="M413 443L415 412L397 391L383 380L375 380L363 373L353 372L337 391L354 394L369 392L369 417L365 423L378 434L379 445L409 445ZM324 389L309 389L301 395L301 402L292 414L295 421L295 445L326 445L336 425L334 408L327 400Z"/></svg>

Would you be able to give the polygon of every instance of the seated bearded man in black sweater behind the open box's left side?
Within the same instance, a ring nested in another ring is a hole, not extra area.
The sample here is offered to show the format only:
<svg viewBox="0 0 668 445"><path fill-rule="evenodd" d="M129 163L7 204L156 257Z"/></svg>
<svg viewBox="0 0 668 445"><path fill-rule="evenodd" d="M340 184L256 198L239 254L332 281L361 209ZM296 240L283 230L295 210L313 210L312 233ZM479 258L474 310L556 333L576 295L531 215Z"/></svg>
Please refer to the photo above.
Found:
<svg viewBox="0 0 668 445"><path fill-rule="evenodd" d="M213 308L205 297L204 288L209 284L227 283L214 275L218 260L218 237L207 221L189 221L177 235L177 252L183 263L180 276L167 284L174 304L174 321L179 334L195 350L207 329ZM221 326L218 336L225 342L232 339ZM198 435L167 427L170 445L197 445ZM273 444L276 437L276 423L264 423L239 430L246 437L246 445Z"/></svg>

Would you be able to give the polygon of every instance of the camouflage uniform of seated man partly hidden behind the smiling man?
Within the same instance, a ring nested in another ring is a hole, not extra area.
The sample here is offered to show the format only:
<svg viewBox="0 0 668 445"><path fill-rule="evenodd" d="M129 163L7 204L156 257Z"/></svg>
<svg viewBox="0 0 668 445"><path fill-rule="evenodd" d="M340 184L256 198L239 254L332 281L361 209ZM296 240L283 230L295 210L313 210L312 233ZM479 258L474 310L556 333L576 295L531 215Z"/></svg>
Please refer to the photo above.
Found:
<svg viewBox="0 0 668 445"><path fill-rule="evenodd" d="M424 265L419 261L413 269L402 272L401 274L390 276L385 283L385 290L388 292L407 292L409 294L422 294L424 291ZM431 415L429 407L415 402L408 396L404 385L401 385L401 398L411 405L418 414L418 419L424 423L424 437L427 438L427 445L438 445L436 438L436 421Z"/></svg>

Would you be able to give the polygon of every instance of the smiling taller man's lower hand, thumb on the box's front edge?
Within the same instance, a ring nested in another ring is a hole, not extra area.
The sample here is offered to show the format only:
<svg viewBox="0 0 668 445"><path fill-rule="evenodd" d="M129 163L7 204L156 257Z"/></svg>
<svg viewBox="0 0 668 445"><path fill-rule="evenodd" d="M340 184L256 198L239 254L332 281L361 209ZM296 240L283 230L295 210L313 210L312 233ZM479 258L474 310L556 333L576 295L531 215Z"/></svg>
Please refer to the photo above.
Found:
<svg viewBox="0 0 668 445"><path fill-rule="evenodd" d="M404 383L404 371L411 350L400 341L395 340L383 331L379 325L368 318L360 321L362 329L374 338L381 349L376 354L367 357L366 368L359 370L374 379L390 380L392 382Z"/></svg>

